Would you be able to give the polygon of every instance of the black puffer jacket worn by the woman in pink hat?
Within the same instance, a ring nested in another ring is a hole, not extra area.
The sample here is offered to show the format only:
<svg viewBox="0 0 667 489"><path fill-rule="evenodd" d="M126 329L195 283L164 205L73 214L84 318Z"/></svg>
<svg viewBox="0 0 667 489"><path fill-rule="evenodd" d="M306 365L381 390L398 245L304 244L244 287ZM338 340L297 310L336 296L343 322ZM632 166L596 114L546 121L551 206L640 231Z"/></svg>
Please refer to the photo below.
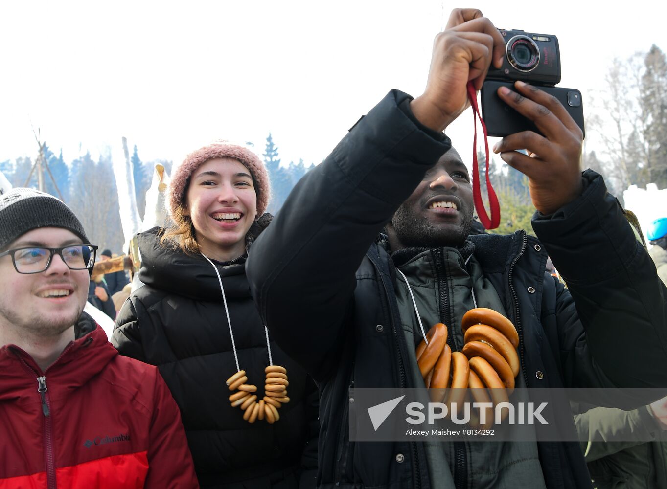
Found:
<svg viewBox="0 0 667 489"><path fill-rule="evenodd" d="M159 246L159 229L139 235L144 286L118 314L111 342L121 354L157 365L173 394L202 487L293 488L314 484L317 391L303 368L271 341L273 364L289 376L289 403L273 425L248 424L229 404L225 380L236 372L220 286L201 256ZM218 264L241 369L263 396L269 364L263 323L245 278L245 258ZM309 404L311 403L311 404ZM307 442L308 450L305 450ZM304 458L304 460L302 460ZM309 474L304 469L309 468ZM307 480L309 476L309 480ZM275 481L286 478L275 486Z"/></svg>

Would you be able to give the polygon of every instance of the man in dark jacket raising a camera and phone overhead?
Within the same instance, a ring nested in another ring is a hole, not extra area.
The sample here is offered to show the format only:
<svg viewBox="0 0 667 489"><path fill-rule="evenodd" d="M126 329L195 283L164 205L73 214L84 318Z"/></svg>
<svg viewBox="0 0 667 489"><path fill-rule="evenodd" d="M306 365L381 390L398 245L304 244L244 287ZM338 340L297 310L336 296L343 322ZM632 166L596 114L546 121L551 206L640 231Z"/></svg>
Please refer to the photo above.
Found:
<svg viewBox="0 0 667 489"><path fill-rule="evenodd" d="M528 176L541 241L468 237L470 177L442 131L466 109L468 82L479 90L504 49L480 11L454 10L426 91L390 92L253 245L247 274L260 314L319 382L320 487L590 487L574 442L350 442L349 388L424 386L416 310L448 325L452 350L470 308L510 318L518 387L667 386L667 290L602 177L580 171L580 127L525 83L498 96L542 135L513 134L494 151ZM548 254L570 291L545 272ZM569 422L562 429L574 432Z"/></svg>

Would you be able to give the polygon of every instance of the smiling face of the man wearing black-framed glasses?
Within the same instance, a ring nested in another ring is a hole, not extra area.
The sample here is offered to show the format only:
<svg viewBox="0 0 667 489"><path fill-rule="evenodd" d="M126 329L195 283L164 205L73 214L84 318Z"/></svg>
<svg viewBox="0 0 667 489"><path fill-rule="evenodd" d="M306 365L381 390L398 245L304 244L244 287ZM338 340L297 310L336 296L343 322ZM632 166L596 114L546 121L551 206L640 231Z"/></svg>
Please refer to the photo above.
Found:
<svg viewBox="0 0 667 489"><path fill-rule="evenodd" d="M33 229L8 249L23 246L59 248L81 244L81 238L62 228ZM43 272L20 274L11 256L0 258L0 328L33 338L56 337L69 329L79 316L88 296L88 270L70 270L54 254Z"/></svg>

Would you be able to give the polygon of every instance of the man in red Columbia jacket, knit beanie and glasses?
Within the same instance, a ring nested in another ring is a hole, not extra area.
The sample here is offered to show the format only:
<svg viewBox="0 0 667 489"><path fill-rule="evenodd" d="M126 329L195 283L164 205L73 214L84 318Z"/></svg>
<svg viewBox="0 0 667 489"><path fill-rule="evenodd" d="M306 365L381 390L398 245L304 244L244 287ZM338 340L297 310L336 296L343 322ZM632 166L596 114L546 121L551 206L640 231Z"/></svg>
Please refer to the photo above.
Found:
<svg viewBox="0 0 667 489"><path fill-rule="evenodd" d="M88 243L55 197L0 196L0 488L197 488L157 368L83 312Z"/></svg>

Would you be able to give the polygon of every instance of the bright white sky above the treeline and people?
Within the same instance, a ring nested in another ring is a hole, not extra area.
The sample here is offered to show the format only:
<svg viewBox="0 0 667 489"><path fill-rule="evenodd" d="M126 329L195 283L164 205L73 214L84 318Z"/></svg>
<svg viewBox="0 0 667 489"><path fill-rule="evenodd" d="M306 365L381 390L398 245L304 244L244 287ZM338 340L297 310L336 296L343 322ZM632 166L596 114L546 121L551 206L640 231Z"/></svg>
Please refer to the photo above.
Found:
<svg viewBox="0 0 667 489"><path fill-rule="evenodd" d="M595 6L594 6L595 4ZM603 7L604 5L604 7ZM661 5L658 7L657 5ZM563 87L586 97L614 57L667 50L664 2L480 1L496 27L554 34ZM0 5L0 161L34 157L30 121L65 161L121 136L143 161L269 131L283 163L319 163L392 88L420 95L441 1ZM466 159L472 114L448 130Z"/></svg>

